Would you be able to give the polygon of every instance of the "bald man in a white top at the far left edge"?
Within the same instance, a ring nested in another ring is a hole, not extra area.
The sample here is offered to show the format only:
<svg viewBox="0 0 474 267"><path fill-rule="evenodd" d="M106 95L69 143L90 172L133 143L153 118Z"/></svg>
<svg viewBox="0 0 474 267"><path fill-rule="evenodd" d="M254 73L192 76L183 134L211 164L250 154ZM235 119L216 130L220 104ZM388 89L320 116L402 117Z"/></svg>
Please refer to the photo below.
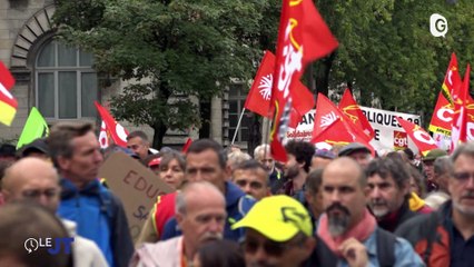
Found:
<svg viewBox="0 0 474 267"><path fill-rule="evenodd" d="M7 169L2 192L7 202L24 200L37 202L52 214L59 206L59 176L52 165L39 158L23 158ZM31 224L34 224L31 221ZM62 220L72 243L75 267L108 266L102 253L89 239L76 235L76 224Z"/></svg>

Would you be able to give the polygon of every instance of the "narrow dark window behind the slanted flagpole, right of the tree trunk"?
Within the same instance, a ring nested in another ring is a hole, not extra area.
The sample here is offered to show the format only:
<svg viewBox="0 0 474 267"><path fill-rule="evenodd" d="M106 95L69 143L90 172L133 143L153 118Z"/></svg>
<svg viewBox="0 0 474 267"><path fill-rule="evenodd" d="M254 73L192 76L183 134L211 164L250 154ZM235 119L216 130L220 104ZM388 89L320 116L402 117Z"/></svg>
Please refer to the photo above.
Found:
<svg viewBox="0 0 474 267"><path fill-rule="evenodd" d="M245 99L247 98L247 92L244 91L243 83L234 83L229 88L229 140L234 138L236 132L238 119L240 112L244 109ZM241 118L240 127L237 131L236 142L248 141L248 127L250 126L250 118L248 117L248 110L246 110L244 117Z"/></svg>

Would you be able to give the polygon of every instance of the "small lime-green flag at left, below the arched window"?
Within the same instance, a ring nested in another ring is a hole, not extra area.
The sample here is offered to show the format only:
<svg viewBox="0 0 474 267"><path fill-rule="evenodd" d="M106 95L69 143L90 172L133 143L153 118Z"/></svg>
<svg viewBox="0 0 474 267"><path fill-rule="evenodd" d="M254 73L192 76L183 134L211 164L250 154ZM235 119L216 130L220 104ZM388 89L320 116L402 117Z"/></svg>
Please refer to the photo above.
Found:
<svg viewBox="0 0 474 267"><path fill-rule="evenodd" d="M36 107L31 108L27 122L24 122L23 130L18 139L17 150L22 146L34 141L38 138L47 137L49 135L49 127L42 115Z"/></svg>

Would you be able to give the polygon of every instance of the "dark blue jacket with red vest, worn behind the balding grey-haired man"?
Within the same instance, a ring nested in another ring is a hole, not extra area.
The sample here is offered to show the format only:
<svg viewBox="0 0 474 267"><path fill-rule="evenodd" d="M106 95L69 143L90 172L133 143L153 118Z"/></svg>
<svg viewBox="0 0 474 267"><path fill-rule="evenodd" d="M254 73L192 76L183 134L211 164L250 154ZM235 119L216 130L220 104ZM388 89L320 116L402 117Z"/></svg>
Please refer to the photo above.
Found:
<svg viewBox="0 0 474 267"><path fill-rule="evenodd" d="M247 196L240 188L230 181L226 181L226 211L227 220L224 228L224 238L239 241L244 237L244 229L231 230L230 226L239 221L255 205L255 199ZM176 218L169 219L164 227L161 240L182 235L178 229Z"/></svg>

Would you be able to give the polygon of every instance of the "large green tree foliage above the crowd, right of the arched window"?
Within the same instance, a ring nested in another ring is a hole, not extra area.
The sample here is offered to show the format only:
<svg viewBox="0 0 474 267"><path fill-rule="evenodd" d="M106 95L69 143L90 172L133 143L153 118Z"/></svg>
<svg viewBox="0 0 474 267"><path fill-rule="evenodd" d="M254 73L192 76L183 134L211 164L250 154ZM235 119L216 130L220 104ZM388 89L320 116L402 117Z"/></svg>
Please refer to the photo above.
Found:
<svg viewBox="0 0 474 267"><path fill-rule="evenodd" d="M98 71L139 81L112 98L112 112L154 128L155 147L167 129L186 130L209 119L190 96L206 106L231 78L253 78L261 44L276 36L268 19L276 20L279 10L261 0L56 2L60 38L91 51Z"/></svg>

